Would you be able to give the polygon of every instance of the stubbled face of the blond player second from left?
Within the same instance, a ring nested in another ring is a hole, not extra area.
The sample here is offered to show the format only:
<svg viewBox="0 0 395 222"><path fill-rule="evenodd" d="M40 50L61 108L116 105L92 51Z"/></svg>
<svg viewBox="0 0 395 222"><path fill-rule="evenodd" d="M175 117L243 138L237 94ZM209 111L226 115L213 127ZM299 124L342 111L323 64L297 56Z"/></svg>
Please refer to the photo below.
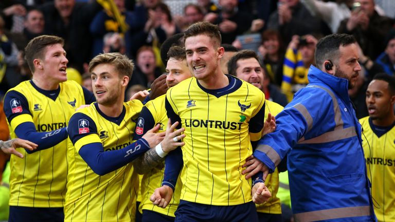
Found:
<svg viewBox="0 0 395 222"><path fill-rule="evenodd" d="M106 63L97 65L92 70L91 79L98 104L110 106L121 98L123 79L119 77L113 65Z"/></svg>

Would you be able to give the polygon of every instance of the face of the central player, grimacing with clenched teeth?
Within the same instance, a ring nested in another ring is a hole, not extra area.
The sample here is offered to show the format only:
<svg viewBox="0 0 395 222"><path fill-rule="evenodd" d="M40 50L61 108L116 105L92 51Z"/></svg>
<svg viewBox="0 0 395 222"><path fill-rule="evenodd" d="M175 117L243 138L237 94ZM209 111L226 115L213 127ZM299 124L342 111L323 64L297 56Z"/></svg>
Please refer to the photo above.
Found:
<svg viewBox="0 0 395 222"><path fill-rule="evenodd" d="M209 36L201 34L188 37L185 40L185 51L189 69L196 79L209 79L220 69L219 59L222 58L223 48Z"/></svg>

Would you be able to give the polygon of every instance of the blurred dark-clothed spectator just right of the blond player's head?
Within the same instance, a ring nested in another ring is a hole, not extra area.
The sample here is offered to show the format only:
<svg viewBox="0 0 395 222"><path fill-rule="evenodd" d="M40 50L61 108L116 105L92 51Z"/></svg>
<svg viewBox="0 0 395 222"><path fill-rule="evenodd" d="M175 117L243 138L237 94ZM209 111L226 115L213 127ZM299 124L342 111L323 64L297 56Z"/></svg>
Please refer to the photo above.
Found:
<svg viewBox="0 0 395 222"><path fill-rule="evenodd" d="M160 75L160 69L156 66L154 50L150 46L141 46L137 51L136 67L128 88L136 84L150 88L151 83Z"/></svg>

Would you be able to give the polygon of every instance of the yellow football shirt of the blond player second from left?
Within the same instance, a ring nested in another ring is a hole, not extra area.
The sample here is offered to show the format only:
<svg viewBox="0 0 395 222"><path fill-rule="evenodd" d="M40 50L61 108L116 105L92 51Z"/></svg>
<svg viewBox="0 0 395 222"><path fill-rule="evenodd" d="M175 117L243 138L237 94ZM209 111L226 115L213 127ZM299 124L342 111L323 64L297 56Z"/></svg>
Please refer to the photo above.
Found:
<svg viewBox="0 0 395 222"><path fill-rule="evenodd" d="M74 145L70 141L67 150L69 159L67 175L67 193L64 206L65 221L133 221L136 212L138 176L133 173L133 164L107 173L97 175L79 155L83 145L102 143L104 152L118 150L133 142L135 121L142 108L142 103L132 100L123 103L124 117L119 124L110 121L95 103L78 110L74 115L85 120L89 131ZM69 126L69 134L70 134ZM74 126L75 127L75 126ZM91 130L89 130L91 129ZM81 128L77 129L81 130Z"/></svg>

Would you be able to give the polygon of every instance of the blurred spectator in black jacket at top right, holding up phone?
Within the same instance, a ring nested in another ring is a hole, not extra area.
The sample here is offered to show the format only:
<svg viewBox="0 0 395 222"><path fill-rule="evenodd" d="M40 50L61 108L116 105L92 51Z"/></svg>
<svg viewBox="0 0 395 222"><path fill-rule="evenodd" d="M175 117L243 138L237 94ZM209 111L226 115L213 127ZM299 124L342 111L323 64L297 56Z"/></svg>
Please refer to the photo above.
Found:
<svg viewBox="0 0 395 222"><path fill-rule="evenodd" d="M393 20L375 11L374 0L354 0L354 3L361 6L351 12L350 18L342 21L338 32L354 35L364 53L375 60L385 49L385 36Z"/></svg>

